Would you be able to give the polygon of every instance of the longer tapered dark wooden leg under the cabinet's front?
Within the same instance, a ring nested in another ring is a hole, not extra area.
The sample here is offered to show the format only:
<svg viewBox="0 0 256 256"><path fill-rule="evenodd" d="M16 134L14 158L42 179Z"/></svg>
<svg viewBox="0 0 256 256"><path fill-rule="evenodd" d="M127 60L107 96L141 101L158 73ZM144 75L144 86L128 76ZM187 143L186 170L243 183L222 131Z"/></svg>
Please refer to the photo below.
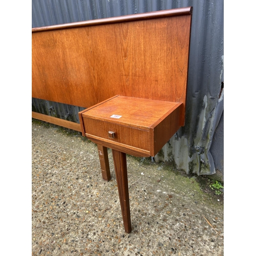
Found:
<svg viewBox="0 0 256 256"><path fill-rule="evenodd" d="M126 233L130 233L132 231L132 225L127 179L126 154L116 150L112 150L112 154L115 165L116 180L123 216L124 230Z"/></svg>

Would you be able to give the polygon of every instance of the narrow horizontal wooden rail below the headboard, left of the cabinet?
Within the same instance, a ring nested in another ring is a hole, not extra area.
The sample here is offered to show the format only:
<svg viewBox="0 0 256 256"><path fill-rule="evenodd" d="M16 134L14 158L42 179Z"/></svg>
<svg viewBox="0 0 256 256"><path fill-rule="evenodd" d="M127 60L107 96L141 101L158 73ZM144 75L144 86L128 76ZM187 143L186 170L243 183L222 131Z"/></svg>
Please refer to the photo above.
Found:
<svg viewBox="0 0 256 256"><path fill-rule="evenodd" d="M39 114L36 112L32 111L32 118L41 120L41 121L45 121L48 123L53 123L59 126L63 126L66 127L68 129L71 130L75 130L78 132L82 132L80 124L79 123L75 123L75 122L71 122L71 121L67 121L67 120L63 120L57 117L52 117L52 116L48 116L48 115L44 115L44 114Z"/></svg>

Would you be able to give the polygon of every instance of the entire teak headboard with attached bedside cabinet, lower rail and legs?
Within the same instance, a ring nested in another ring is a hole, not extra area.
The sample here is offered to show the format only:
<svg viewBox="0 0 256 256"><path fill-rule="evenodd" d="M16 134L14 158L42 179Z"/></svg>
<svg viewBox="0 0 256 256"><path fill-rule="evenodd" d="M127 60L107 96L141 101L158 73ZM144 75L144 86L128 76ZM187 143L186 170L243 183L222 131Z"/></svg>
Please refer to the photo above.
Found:
<svg viewBox="0 0 256 256"><path fill-rule="evenodd" d="M187 7L32 29L32 97L87 108L79 112L80 125L60 125L98 145L106 181L112 148L127 233L126 154L155 156L184 125L191 12Z"/></svg>

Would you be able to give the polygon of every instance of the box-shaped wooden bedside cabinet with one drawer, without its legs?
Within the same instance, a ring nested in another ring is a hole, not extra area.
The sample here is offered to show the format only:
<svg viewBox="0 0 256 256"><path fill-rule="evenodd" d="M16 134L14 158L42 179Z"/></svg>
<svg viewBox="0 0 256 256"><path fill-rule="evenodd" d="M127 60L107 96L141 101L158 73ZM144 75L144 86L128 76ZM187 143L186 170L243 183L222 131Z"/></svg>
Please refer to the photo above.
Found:
<svg viewBox="0 0 256 256"><path fill-rule="evenodd" d="M153 157L179 129L181 105L115 96L79 113L82 133L113 150Z"/></svg>

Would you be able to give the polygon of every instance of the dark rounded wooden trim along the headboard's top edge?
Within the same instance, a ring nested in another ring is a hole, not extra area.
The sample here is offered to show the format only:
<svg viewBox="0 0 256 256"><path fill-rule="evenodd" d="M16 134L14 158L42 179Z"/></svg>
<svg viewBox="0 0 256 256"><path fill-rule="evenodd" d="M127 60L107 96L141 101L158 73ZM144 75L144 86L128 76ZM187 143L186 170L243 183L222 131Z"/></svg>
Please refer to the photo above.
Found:
<svg viewBox="0 0 256 256"><path fill-rule="evenodd" d="M193 12L193 7L176 8L176 9L154 11L154 12L145 12L145 13L130 14L130 15L117 16L117 17L110 17L110 18L86 20L84 22L74 22L74 23L32 28L32 33L33 32L41 32L41 31L71 29L71 28L88 27L88 26L96 26L96 25L104 25L104 24L122 23L122 22L132 22L135 20L164 18L164 17L170 17L170 16L179 16L179 15L189 15L189 14L192 14L192 12Z"/></svg>

